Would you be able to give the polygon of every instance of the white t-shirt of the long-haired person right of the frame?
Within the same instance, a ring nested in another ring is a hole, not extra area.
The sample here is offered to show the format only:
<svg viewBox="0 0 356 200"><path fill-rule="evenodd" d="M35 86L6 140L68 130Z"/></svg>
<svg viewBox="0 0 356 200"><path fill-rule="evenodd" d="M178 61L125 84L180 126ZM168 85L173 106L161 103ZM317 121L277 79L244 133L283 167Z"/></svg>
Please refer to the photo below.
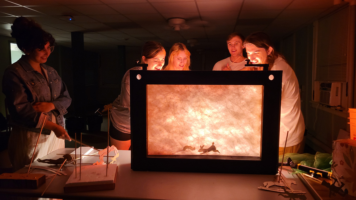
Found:
<svg viewBox="0 0 356 200"><path fill-rule="evenodd" d="M289 133L286 147L291 147L302 142L305 131L304 118L300 110L298 79L293 69L281 57L274 61L271 70L283 71L279 147L284 147L287 131Z"/></svg>

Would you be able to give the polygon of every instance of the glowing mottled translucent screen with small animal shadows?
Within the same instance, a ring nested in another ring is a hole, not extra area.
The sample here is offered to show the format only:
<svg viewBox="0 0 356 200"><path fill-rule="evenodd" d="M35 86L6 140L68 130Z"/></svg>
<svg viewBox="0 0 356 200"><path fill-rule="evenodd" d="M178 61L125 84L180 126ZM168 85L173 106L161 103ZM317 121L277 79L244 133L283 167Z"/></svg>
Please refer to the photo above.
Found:
<svg viewBox="0 0 356 200"><path fill-rule="evenodd" d="M262 91L262 85L147 85L148 155L260 157Z"/></svg>

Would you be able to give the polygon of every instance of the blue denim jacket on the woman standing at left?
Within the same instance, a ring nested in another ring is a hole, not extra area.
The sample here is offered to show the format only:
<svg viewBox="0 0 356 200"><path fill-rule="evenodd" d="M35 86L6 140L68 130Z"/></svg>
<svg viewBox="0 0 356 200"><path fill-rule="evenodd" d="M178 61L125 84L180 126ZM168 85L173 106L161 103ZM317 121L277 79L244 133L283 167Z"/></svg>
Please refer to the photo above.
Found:
<svg viewBox="0 0 356 200"><path fill-rule="evenodd" d="M5 69L2 79L2 92L6 96L5 104L10 112L10 125L38 133L45 115L48 121L54 115L58 124L64 126L63 115L72 102L67 86L57 71L45 64L40 65L45 77L33 69L25 56L22 56ZM56 108L48 113L36 112L32 105L37 102L51 102ZM49 135L51 130L43 128L42 133Z"/></svg>

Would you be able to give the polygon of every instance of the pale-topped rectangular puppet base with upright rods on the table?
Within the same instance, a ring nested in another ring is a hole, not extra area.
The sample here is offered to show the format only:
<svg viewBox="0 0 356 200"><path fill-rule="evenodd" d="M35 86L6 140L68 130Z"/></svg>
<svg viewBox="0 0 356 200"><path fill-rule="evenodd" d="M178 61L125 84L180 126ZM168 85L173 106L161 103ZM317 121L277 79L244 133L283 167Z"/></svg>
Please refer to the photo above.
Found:
<svg viewBox="0 0 356 200"><path fill-rule="evenodd" d="M74 170L64 186L64 192L113 190L115 189L116 173L116 164L108 165L108 176L106 176L106 165L86 165L82 166L82 175L79 180L79 167L77 167L77 178L75 178Z"/></svg>

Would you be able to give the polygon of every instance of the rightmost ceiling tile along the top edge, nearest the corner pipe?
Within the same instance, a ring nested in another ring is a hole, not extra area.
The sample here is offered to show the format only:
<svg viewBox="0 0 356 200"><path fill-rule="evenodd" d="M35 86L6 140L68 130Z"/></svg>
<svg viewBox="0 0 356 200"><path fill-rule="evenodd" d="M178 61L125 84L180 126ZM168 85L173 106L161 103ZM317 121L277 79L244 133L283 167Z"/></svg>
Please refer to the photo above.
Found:
<svg viewBox="0 0 356 200"><path fill-rule="evenodd" d="M334 6L333 0L294 0L287 9L321 9Z"/></svg>

